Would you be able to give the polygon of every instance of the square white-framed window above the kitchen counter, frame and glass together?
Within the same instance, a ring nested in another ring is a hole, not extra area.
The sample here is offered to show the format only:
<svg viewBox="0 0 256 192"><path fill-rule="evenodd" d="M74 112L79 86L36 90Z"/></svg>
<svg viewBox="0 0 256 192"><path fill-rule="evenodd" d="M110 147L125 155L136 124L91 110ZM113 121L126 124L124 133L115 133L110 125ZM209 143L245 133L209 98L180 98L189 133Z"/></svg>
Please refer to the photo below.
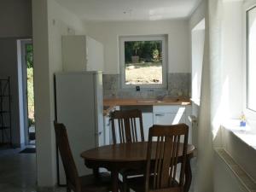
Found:
<svg viewBox="0 0 256 192"><path fill-rule="evenodd" d="M166 88L166 36L121 37L122 88Z"/></svg>

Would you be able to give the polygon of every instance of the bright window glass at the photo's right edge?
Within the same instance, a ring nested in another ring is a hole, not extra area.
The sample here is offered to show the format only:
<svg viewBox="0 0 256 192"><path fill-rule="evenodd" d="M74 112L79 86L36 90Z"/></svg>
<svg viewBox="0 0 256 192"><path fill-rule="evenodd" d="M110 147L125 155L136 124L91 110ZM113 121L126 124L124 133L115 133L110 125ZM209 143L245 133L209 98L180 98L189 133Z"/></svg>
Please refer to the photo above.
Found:
<svg viewBox="0 0 256 192"><path fill-rule="evenodd" d="M247 108L256 111L256 7L247 10Z"/></svg>

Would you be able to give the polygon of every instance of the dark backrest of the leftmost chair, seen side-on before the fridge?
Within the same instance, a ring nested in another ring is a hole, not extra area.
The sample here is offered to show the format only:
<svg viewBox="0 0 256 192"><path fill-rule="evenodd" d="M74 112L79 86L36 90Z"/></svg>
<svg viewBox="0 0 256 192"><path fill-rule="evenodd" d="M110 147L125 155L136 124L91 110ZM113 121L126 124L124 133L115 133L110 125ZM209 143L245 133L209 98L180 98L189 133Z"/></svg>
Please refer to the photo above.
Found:
<svg viewBox="0 0 256 192"><path fill-rule="evenodd" d="M64 170L67 177L67 185L76 191L80 191L81 183L79 179L79 172L73 160L73 154L69 146L67 130L65 125L55 124L55 138L57 148L59 148L61 154L61 160L64 166Z"/></svg>

